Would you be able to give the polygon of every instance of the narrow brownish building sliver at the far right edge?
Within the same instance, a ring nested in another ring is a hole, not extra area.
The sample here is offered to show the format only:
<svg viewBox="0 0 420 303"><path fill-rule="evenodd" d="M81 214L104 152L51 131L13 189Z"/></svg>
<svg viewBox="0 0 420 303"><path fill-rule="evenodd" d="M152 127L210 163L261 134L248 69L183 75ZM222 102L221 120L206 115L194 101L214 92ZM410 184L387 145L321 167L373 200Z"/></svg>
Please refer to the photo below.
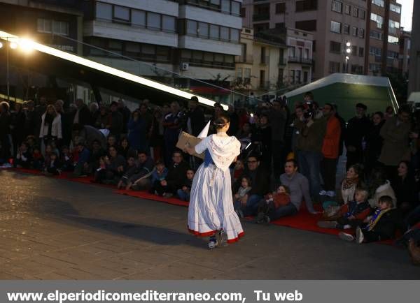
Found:
<svg viewBox="0 0 420 303"><path fill-rule="evenodd" d="M408 94L420 91L420 1L414 1L412 39L409 53Z"/></svg>

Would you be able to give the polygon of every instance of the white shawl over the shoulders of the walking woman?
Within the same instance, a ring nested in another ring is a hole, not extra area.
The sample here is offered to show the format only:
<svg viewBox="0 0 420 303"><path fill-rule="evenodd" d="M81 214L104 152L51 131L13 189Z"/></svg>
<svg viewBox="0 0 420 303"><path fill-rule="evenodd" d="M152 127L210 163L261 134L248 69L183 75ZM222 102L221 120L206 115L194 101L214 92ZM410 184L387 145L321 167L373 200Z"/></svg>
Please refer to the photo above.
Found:
<svg viewBox="0 0 420 303"><path fill-rule="evenodd" d="M209 135L195 146L197 154L209 150L214 165L225 171L241 152L241 143L235 137Z"/></svg>

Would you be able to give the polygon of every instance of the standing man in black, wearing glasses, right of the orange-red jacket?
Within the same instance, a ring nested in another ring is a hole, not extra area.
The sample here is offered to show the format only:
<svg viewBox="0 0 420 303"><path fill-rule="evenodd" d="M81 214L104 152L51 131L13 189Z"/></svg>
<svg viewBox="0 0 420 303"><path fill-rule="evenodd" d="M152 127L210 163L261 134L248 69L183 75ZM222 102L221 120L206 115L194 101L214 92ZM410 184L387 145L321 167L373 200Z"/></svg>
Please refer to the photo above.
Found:
<svg viewBox="0 0 420 303"><path fill-rule="evenodd" d="M363 163L362 140L370 128L370 121L365 115L366 110L366 105L357 103L356 117L351 118L349 124L347 124L344 136L344 143L347 149L347 169L353 164Z"/></svg>

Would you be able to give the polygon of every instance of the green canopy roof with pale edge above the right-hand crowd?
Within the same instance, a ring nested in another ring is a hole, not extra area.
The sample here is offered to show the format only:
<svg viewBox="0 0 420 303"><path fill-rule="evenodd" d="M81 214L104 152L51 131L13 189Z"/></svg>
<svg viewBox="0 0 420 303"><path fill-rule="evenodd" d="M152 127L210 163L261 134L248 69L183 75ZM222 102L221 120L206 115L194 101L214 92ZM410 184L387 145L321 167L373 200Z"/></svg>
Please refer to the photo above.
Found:
<svg viewBox="0 0 420 303"><path fill-rule="evenodd" d="M392 106L394 112L398 110L388 77L333 73L286 93L290 108L302 102L308 91L314 94L314 101L320 106L325 103L337 104L339 114L346 120L354 116L357 103L367 105L367 112L384 112L388 106Z"/></svg>

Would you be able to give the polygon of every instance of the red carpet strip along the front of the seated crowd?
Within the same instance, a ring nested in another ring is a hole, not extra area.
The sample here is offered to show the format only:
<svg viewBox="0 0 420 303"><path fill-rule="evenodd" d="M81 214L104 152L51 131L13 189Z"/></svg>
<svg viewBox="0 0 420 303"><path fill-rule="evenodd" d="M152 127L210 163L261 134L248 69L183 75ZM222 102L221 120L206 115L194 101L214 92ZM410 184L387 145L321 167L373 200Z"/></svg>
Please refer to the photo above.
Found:
<svg viewBox="0 0 420 303"><path fill-rule="evenodd" d="M19 172L25 172L27 174L32 174L32 175L41 175L41 172L39 170L29 170L25 168L18 168L15 170L18 170ZM69 173L63 172L61 175L53 176L53 178L67 179L72 182L78 182L78 183L83 183L83 184L94 184L94 185L109 187L113 189L116 188L116 186L113 186L113 185L92 183L93 177L70 178L68 175ZM177 198L164 198L158 195L153 195L152 193L148 193L147 191L116 190L114 192L120 195L130 195L130 197L136 197L136 198L153 200L153 201L160 201L160 202L165 202L172 205L179 205L183 207L188 207L188 204L189 204L188 202L181 201ZM316 210L321 211L321 205L315 205L314 207ZM321 220L321 214L309 214L309 212L307 212L306 207L302 205L302 208L300 209L300 212L298 214L295 214L294 216L286 216L279 220L272 221L272 224L278 225L278 226L287 226L290 228L297 228L300 230L309 230L311 232L321 232L323 234L328 234L328 235L338 235L339 232L341 231L335 228L319 228L316 225L316 222L318 222L319 220ZM393 244L393 240L382 241L381 243Z"/></svg>

